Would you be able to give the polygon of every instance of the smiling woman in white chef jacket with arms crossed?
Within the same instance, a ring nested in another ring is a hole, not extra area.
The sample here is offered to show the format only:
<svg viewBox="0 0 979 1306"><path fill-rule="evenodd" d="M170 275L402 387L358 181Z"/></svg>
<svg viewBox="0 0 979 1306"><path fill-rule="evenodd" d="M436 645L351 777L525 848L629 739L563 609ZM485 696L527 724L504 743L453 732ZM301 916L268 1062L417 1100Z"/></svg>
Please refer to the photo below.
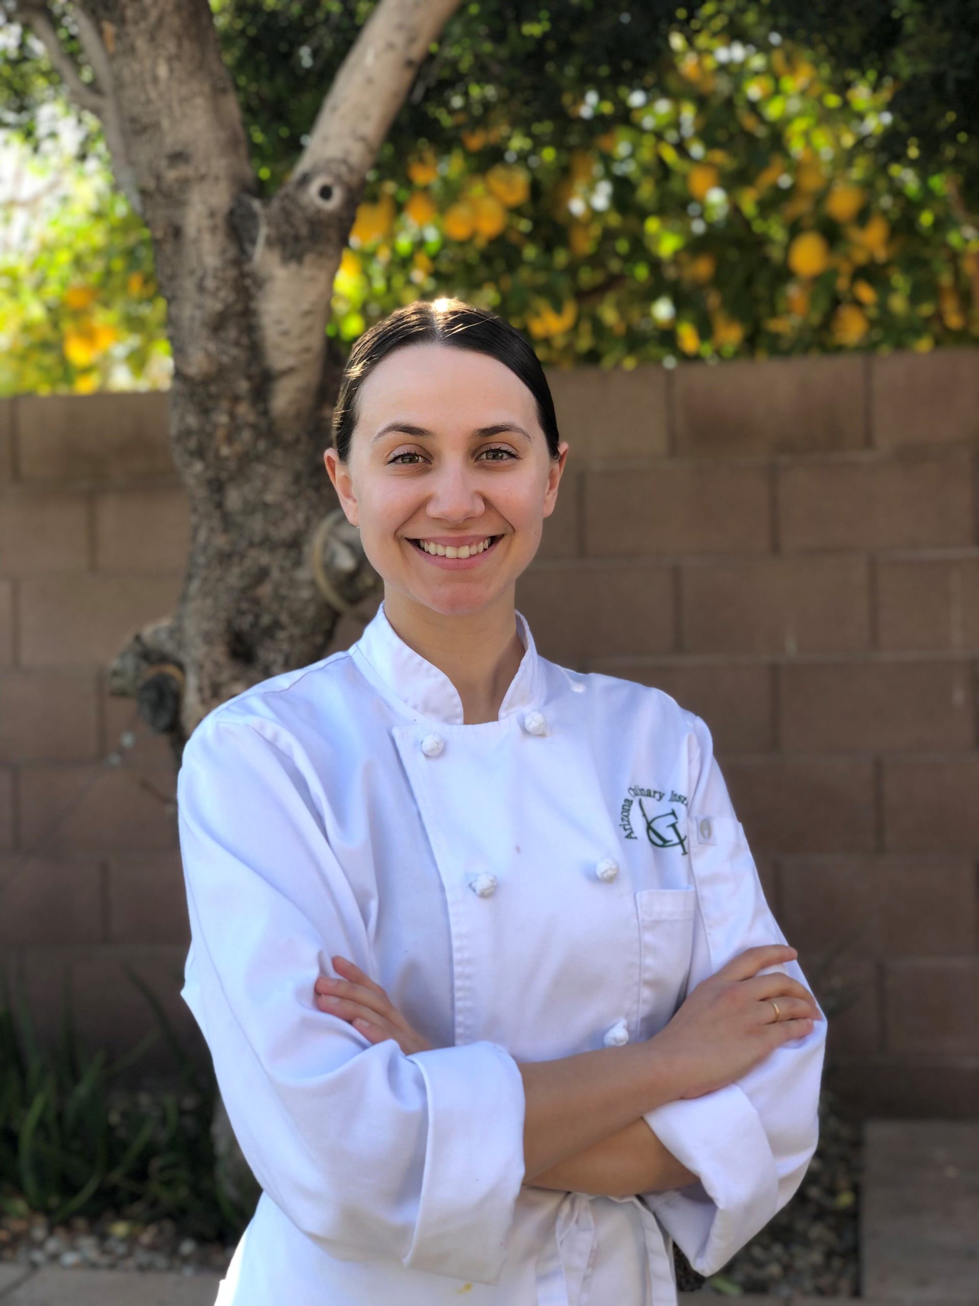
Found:
<svg viewBox="0 0 979 1306"><path fill-rule="evenodd" d="M822 1012L706 725L514 609L568 454L523 337L399 310L334 439L384 601L179 776L184 998L264 1188L218 1301L666 1306L674 1239L711 1273L799 1187Z"/></svg>

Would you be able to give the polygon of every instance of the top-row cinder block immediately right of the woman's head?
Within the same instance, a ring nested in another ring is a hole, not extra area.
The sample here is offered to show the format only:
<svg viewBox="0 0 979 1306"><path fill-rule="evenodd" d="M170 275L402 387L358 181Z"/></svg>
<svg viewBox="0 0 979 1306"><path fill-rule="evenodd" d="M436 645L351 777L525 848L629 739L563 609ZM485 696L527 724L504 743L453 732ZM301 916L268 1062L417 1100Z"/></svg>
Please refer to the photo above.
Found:
<svg viewBox="0 0 979 1306"><path fill-rule="evenodd" d="M548 368L568 458L653 458L667 452L667 374L659 363Z"/></svg>

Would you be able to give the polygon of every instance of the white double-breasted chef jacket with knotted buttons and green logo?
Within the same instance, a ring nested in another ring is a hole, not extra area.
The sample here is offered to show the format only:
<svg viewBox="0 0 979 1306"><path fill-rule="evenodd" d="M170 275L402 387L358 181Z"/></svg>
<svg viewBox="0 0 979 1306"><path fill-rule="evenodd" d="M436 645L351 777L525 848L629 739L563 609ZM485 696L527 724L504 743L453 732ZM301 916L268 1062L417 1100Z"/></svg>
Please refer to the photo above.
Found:
<svg viewBox="0 0 979 1306"><path fill-rule="evenodd" d="M825 1021L645 1115L696 1183L522 1186L518 1062L649 1040L736 953L786 939L704 721L517 628L495 721L463 722L381 603L350 649L188 741L183 996L264 1190L221 1306L667 1306L674 1239L710 1275L805 1174ZM317 1010L334 955L433 1050Z"/></svg>

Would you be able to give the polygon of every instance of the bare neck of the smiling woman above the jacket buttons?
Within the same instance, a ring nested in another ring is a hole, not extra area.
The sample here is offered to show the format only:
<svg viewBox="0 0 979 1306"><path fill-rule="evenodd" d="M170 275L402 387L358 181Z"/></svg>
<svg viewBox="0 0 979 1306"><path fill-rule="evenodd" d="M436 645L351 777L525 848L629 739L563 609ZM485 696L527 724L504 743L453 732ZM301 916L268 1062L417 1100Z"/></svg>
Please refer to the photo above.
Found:
<svg viewBox="0 0 979 1306"><path fill-rule="evenodd" d="M513 588L476 613L436 613L385 590L384 613L394 632L458 691L466 725L497 721L523 645L517 633Z"/></svg>

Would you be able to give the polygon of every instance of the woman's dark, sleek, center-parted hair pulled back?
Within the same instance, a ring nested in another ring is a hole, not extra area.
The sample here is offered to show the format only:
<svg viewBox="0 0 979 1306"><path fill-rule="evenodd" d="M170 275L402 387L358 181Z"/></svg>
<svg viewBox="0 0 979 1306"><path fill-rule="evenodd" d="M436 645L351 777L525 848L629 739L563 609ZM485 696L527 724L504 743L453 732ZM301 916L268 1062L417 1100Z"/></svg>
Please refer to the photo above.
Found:
<svg viewBox="0 0 979 1306"><path fill-rule="evenodd" d="M354 342L333 410L333 444L341 462L346 462L350 456L358 417L356 396L364 377L369 376L382 358L406 345L452 345L453 349L471 349L474 354L487 354L504 363L534 396L548 453L552 458L557 457L560 436L551 388L531 345L516 326L510 326L504 317L488 308L476 308L461 299L440 298L435 302L418 299L403 308L396 308Z"/></svg>

